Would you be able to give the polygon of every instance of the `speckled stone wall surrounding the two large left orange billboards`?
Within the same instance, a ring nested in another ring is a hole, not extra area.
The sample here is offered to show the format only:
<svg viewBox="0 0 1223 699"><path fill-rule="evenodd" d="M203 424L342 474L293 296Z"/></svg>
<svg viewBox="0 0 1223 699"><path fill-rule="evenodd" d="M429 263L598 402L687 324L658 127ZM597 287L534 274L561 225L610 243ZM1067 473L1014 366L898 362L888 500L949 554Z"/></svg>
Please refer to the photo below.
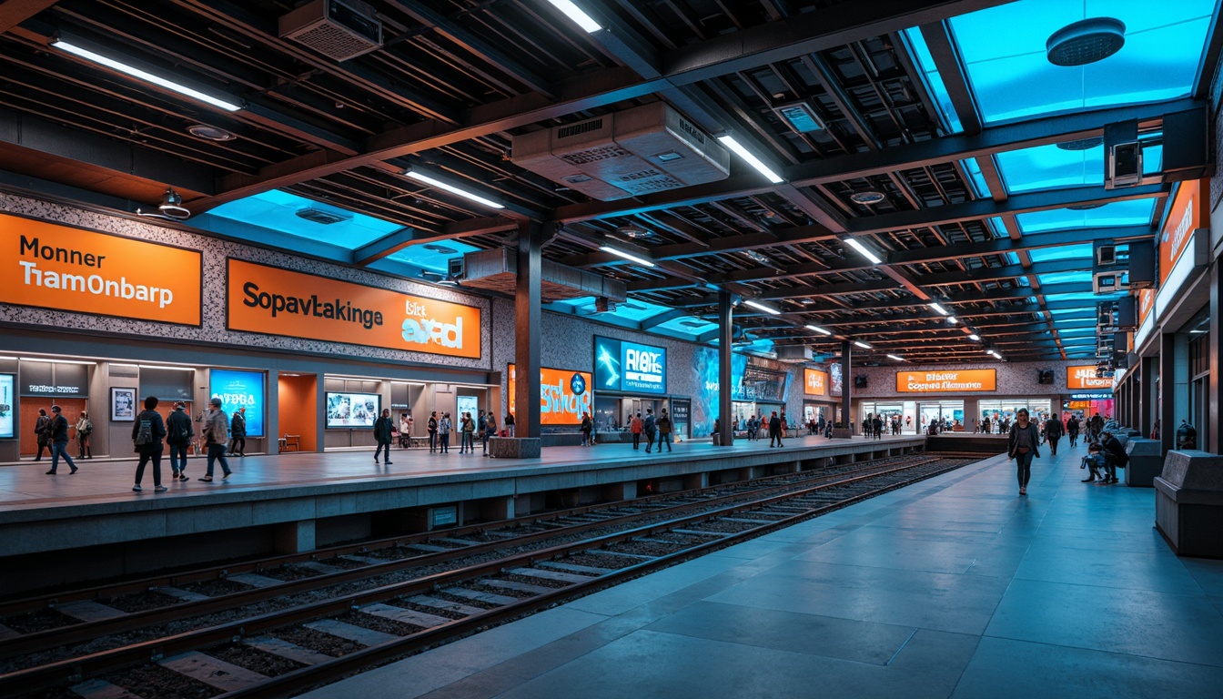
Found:
<svg viewBox="0 0 1223 699"><path fill-rule="evenodd" d="M126 218L106 215L103 213L95 213L81 208L15 195L0 193L0 212L27 215L53 223L75 225L137 240L168 242L181 247L199 250L203 255L203 316L202 327L198 328L126 318L99 318L86 313L73 313L70 311L44 311L6 304L0 304L0 322L31 326L51 324L57 328L76 331L104 331L108 333L122 333L137 337L159 337L202 343L220 343L234 346L305 351L340 355L345 357L361 357L374 361L433 364L477 370L489 370L492 367L493 351L489 342L490 334L488 332L490 323L490 302L486 297L470 296L450 289L417 284L406 279L388 277L366 269L303 258L276 250L268 250L240 242L218 240L205 235L185 233L157 225L152 222L130 220ZM229 331L225 327L225 261L229 257L246 260L249 262L259 262L307 274L318 274L322 277L364 284L368 286L391 289L405 294L413 294L442 301L453 301L456 304L477 306L481 308L481 322L483 324L483 332L481 333L483 338L481 356L479 359L449 357L407 350L393 350L346 343Z"/></svg>

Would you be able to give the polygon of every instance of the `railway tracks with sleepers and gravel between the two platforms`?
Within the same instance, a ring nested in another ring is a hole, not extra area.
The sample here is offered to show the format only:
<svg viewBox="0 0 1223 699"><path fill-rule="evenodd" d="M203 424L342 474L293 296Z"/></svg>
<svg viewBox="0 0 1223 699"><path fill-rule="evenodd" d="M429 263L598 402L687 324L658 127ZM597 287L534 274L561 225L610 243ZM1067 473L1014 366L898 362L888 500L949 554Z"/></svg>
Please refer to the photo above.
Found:
<svg viewBox="0 0 1223 699"><path fill-rule="evenodd" d="M13 600L0 695L286 695L980 458L894 457Z"/></svg>

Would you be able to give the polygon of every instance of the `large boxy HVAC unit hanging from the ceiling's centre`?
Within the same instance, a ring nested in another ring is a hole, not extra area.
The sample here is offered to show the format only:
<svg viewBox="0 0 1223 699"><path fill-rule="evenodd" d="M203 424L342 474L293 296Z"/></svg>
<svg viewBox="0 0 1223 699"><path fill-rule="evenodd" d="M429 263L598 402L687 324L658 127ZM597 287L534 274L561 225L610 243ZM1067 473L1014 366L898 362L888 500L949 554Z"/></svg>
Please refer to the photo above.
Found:
<svg viewBox="0 0 1223 699"><path fill-rule="evenodd" d="M514 137L514 164L602 201L730 174L730 152L662 102L542 133Z"/></svg>

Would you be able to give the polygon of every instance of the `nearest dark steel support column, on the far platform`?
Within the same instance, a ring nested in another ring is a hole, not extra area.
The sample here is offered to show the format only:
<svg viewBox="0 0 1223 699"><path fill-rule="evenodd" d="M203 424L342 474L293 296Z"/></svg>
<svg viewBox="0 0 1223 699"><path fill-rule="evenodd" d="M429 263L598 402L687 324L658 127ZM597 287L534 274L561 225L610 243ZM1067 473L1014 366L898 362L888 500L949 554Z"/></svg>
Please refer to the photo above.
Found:
<svg viewBox="0 0 1223 699"><path fill-rule="evenodd" d="M549 224L552 225L552 224ZM514 297L514 430L516 437L539 437L539 305L541 249L544 234L539 224L519 225L519 278Z"/></svg>

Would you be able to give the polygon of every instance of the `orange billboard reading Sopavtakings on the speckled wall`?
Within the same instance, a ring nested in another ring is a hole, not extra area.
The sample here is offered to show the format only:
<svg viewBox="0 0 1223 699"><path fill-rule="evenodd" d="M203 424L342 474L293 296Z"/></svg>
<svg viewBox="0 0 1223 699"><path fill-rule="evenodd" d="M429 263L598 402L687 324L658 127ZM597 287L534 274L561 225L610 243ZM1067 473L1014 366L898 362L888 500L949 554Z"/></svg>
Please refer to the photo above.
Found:
<svg viewBox="0 0 1223 699"><path fill-rule="evenodd" d="M479 359L479 308L229 261L229 328Z"/></svg>

